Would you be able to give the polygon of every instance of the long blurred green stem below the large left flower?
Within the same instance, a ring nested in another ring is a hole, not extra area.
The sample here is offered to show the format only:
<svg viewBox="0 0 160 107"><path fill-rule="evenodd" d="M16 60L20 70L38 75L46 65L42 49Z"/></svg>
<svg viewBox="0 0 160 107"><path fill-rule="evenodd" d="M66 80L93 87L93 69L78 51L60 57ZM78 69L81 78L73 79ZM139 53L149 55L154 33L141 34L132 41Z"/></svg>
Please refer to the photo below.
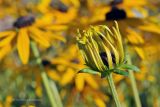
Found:
<svg viewBox="0 0 160 107"><path fill-rule="evenodd" d="M51 89L49 79L48 79L47 74L45 72L44 66L42 65L42 59L40 58L38 48L36 46L36 43L33 42L33 41L31 41L31 48L32 48L34 56L36 57L36 62L40 67L42 81L43 81L44 87L46 89L47 95L49 97L49 101L51 103L51 106L52 107L62 107L62 103L57 104L55 95L59 95L58 91L54 91L54 90ZM54 89L57 89L57 88L54 88Z"/></svg>

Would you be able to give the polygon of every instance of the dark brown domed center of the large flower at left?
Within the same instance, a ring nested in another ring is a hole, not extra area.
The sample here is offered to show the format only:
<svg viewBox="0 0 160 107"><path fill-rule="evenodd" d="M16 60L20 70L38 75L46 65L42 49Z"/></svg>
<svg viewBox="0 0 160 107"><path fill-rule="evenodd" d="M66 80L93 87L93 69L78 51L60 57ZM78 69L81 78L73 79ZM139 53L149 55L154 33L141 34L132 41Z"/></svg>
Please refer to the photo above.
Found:
<svg viewBox="0 0 160 107"><path fill-rule="evenodd" d="M21 16L19 17L13 24L16 28L22 28L26 26L30 26L35 22L35 18L33 16Z"/></svg>

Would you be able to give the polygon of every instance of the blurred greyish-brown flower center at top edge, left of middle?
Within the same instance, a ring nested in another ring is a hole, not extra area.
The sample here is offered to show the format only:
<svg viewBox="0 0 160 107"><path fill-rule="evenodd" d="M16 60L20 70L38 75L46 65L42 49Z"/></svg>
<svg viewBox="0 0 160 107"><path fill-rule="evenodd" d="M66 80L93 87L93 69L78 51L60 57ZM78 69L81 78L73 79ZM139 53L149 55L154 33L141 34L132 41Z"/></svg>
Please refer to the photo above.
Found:
<svg viewBox="0 0 160 107"><path fill-rule="evenodd" d="M52 0L52 2L50 3L50 6L64 13L68 11L68 6L66 6L64 3L62 3L59 0L58 1Z"/></svg>

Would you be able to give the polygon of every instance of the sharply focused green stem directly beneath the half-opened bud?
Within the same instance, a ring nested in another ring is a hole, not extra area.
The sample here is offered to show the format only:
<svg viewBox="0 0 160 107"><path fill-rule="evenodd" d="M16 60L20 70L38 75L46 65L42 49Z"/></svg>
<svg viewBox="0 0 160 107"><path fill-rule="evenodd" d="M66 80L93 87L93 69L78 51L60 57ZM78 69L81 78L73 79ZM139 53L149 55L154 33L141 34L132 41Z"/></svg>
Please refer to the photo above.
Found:
<svg viewBox="0 0 160 107"><path fill-rule="evenodd" d="M108 83L109 83L109 86L110 86L110 89L111 89L111 92L112 92L113 99L116 103L116 107L121 107L121 104L120 104L120 101L119 101L119 98L118 98L118 94L117 94L117 91L116 91L111 73L107 75L107 80L108 80Z"/></svg>

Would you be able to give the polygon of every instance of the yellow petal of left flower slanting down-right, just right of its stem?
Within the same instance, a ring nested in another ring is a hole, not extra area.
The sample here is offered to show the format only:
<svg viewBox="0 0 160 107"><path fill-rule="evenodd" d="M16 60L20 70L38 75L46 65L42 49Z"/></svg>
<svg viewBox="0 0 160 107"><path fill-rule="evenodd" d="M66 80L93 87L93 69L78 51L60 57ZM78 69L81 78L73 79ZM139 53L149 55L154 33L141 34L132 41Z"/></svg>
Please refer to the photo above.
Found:
<svg viewBox="0 0 160 107"><path fill-rule="evenodd" d="M41 30L39 30L36 27L30 27L29 31L33 34L31 35L31 37L38 43L40 43L42 46L48 48L50 46L49 41L47 41L46 37L47 35L45 35L44 32L42 32Z"/></svg>

